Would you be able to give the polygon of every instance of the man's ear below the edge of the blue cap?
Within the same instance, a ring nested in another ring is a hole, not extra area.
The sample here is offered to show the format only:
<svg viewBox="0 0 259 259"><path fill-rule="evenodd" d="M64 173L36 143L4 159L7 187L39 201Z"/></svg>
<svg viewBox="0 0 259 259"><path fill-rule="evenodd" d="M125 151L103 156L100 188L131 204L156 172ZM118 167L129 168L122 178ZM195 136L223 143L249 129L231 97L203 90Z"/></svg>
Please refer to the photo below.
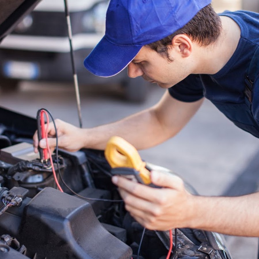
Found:
<svg viewBox="0 0 259 259"><path fill-rule="evenodd" d="M186 34L178 34L172 39L171 47L183 58L187 58L192 53L193 43Z"/></svg>

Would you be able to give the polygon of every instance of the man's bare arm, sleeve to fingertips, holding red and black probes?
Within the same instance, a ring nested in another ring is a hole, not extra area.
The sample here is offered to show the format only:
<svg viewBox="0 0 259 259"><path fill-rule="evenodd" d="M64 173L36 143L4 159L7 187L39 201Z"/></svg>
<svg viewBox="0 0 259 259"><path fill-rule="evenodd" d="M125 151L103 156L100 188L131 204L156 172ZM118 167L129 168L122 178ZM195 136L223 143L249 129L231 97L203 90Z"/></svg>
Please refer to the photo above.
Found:
<svg viewBox="0 0 259 259"><path fill-rule="evenodd" d="M176 135L201 106L203 99L187 103L180 102L165 92L161 100L144 111L124 119L89 129L80 129L64 121L56 120L59 146L68 151L80 148L104 149L111 136L121 136L137 149L155 146ZM52 149L56 146L53 123L49 125L48 142ZM34 134L34 147L37 152L38 139ZM40 146L46 147L45 140Z"/></svg>

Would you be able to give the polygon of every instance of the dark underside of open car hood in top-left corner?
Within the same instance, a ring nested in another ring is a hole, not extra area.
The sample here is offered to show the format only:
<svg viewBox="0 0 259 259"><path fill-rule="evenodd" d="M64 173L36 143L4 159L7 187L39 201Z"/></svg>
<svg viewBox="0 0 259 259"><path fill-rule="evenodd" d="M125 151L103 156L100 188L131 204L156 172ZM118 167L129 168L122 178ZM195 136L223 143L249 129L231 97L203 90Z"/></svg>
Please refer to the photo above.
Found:
<svg viewBox="0 0 259 259"><path fill-rule="evenodd" d="M0 42L41 0L0 0Z"/></svg>

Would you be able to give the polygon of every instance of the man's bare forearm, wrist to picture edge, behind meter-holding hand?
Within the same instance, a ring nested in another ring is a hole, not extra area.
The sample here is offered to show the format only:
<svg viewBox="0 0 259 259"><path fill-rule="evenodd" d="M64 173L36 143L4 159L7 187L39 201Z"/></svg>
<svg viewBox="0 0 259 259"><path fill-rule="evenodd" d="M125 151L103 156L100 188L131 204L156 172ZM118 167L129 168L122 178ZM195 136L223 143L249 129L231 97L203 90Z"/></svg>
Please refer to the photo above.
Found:
<svg viewBox="0 0 259 259"><path fill-rule="evenodd" d="M259 237L259 193L239 197L193 197L190 227Z"/></svg>

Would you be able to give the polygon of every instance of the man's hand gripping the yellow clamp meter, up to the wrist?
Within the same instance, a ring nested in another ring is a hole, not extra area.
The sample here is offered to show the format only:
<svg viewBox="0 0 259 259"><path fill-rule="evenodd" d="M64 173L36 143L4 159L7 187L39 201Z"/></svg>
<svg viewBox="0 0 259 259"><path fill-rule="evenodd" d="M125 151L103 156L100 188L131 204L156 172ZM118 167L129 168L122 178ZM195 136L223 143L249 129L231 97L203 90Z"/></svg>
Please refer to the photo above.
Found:
<svg viewBox="0 0 259 259"><path fill-rule="evenodd" d="M181 178L163 172L151 172L152 183L163 188L152 188L121 176L113 176L119 187L125 209L144 227L166 231L188 227L192 215L192 195Z"/></svg>

